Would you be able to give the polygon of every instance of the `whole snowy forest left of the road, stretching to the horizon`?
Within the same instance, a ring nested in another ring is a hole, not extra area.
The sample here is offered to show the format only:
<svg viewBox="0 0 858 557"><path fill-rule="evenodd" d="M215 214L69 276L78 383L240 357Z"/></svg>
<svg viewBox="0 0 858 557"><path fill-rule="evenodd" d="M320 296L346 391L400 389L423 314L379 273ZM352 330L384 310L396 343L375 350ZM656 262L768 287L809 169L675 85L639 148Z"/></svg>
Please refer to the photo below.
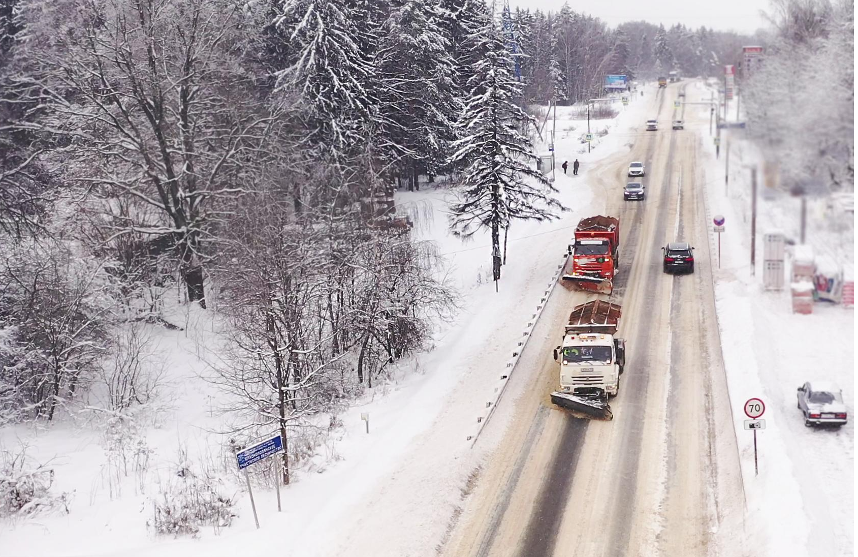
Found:
<svg viewBox="0 0 858 557"><path fill-rule="evenodd" d="M169 298L230 320L218 383L285 431L455 306L432 246L384 215L394 188L462 185L451 227L491 229L497 280L510 222L563 209L529 103L729 48L568 6L509 19L520 81L481 0L0 0L0 422L96 384L146 400L114 356L140 347L132 326L175 326Z"/></svg>

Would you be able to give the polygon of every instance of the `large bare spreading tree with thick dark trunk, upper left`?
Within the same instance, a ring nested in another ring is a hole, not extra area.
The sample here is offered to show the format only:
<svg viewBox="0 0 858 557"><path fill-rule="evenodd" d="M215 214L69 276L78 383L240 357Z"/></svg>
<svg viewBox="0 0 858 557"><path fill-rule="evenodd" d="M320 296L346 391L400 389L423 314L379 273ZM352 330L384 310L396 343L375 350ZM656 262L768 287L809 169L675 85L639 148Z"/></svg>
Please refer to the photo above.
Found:
<svg viewBox="0 0 858 557"><path fill-rule="evenodd" d="M208 228L252 188L280 125L243 65L245 16L229 0L54 4L29 8L42 7L39 25L66 30L33 33L28 45L33 94L51 109L41 125L67 137L73 176L139 207L114 211L112 237L161 239L188 299L205 306Z"/></svg>

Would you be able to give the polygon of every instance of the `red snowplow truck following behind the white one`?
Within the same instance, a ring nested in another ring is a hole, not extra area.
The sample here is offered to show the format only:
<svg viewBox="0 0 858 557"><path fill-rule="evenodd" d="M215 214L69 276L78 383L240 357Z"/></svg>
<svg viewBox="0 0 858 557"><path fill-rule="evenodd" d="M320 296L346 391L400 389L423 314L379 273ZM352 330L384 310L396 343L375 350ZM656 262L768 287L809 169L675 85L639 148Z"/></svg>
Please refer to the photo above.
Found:
<svg viewBox="0 0 858 557"><path fill-rule="evenodd" d="M572 269L563 280L582 290L611 294L619 264L619 219L596 215L578 221L568 254Z"/></svg>

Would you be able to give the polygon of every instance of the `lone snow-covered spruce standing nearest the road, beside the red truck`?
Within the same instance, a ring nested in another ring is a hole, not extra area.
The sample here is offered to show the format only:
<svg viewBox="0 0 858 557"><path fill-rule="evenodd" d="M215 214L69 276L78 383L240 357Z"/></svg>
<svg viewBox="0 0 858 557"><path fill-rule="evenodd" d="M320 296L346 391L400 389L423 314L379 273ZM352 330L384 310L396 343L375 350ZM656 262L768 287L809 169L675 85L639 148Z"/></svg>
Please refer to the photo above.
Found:
<svg viewBox="0 0 858 557"><path fill-rule="evenodd" d="M533 144L519 124L533 121L516 104L520 84L512 72L512 59L496 24L489 20L479 36L486 54L474 67L471 94L460 125L453 162L467 165L458 203L451 207L450 227L470 236L480 228L492 231L492 275L500 279L500 231L515 219L546 221L563 206L556 191L535 169ZM533 166L532 166L533 165ZM496 285L497 286L497 285Z"/></svg>

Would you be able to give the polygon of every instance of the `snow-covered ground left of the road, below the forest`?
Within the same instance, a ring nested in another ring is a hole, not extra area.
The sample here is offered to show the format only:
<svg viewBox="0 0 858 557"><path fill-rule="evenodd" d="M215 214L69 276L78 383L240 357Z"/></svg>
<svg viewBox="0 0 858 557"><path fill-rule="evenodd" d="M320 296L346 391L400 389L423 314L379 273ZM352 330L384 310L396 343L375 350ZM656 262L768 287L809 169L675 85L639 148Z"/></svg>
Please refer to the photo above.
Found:
<svg viewBox="0 0 858 557"><path fill-rule="evenodd" d="M445 208L451 192L443 184L397 193L397 204L415 217L415 236L435 242L446 258L445 272L460 291L462 309L452 323L439 324L431 351L402 362L389 382L340 416L341 427L320 454L282 490L282 512L276 512L273 490L255 488L261 530L255 528L226 439L215 433L223 419L216 411L219 394L201 379L214 357L218 325L211 312L178 308L170 318L184 331L152 329L167 363L170 397L168 404L141 412L136 422L135 442L142 441L137 447L148 454L143 471L135 471L130 454L127 474L118 467L116 451L108 449L106 420L98 415L83 412L61 423L0 430L0 446L16 451L21 443L27 445L33 462L49 462L54 470L51 491L70 494L68 514L4 523L2 554L168 557L232 554L248 547L302 557L434 553L485 451L472 451L467 437L477 432L486 403L497 398L500 371L508 371L505 365L523 340L544 288L564 261L571 229L594 202L588 170L624 148L624 130L648 116L637 98L617 107L616 118L591 122L596 137L591 153L580 141L586 120L572 121L570 109L559 108L554 185L571 210L558 221L511 227L499 293L491 281L487 235L463 243L448 233ZM552 126L549 121L545 136ZM547 153L547 144L538 150ZM581 173L573 177L576 158ZM568 175L559 167L563 160L569 160ZM369 433L360 419L365 413ZM214 470L223 491L234 494L239 517L229 528L202 530L196 538L154 536L147 528L152 498L185 462L191 469L207 463Z"/></svg>

